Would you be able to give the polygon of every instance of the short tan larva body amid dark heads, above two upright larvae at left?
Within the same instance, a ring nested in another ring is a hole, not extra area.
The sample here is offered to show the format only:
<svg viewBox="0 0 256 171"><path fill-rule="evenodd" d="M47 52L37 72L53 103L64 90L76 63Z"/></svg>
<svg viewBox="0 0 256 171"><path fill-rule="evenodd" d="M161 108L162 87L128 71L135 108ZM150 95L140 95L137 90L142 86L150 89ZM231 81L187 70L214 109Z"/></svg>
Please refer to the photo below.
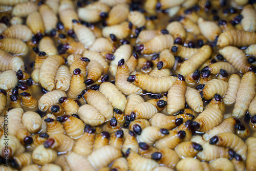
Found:
<svg viewBox="0 0 256 171"><path fill-rule="evenodd" d="M55 47L54 40L50 36L45 36L39 41L38 49L49 56L58 55L58 50Z"/></svg>

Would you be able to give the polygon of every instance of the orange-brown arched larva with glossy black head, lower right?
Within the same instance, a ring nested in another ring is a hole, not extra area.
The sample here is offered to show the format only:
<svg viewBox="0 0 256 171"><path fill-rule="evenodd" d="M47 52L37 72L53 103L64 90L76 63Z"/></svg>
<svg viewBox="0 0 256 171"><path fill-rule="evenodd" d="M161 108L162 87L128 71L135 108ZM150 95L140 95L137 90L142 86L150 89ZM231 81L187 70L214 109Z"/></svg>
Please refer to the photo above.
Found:
<svg viewBox="0 0 256 171"><path fill-rule="evenodd" d="M209 140L209 144L215 144L233 149L238 155L245 160L247 153L246 143L233 133L220 133Z"/></svg>

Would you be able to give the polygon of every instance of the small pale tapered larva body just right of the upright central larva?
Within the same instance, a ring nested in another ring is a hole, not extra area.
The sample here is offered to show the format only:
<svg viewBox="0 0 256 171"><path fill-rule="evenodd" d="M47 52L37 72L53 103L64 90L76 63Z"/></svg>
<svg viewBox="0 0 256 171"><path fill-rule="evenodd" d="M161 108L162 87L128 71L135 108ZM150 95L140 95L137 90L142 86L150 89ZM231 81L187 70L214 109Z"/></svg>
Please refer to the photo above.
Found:
<svg viewBox="0 0 256 171"><path fill-rule="evenodd" d="M204 109L203 100L201 95L198 93L196 89L187 87L185 93L185 100L188 106L195 112L202 112Z"/></svg>

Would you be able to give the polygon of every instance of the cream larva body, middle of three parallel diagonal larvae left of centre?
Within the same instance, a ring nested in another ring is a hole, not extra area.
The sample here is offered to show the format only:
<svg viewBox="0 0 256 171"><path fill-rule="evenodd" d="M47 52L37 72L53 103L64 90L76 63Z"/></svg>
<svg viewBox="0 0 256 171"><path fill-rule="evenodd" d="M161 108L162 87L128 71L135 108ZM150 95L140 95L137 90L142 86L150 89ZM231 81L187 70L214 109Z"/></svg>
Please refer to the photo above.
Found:
<svg viewBox="0 0 256 171"><path fill-rule="evenodd" d="M111 102L100 92L94 90L88 90L83 98L92 105L101 115L106 118L106 121L113 118L113 107Z"/></svg>

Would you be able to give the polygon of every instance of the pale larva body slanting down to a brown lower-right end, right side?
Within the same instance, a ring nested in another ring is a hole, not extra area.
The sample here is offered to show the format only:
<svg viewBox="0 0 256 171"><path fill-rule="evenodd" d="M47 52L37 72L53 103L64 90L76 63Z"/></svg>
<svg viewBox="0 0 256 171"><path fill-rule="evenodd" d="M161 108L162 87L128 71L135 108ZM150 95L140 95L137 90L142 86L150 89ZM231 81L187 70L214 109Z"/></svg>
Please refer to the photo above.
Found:
<svg viewBox="0 0 256 171"><path fill-rule="evenodd" d="M250 63L244 52L236 47L227 46L219 50L220 54L238 71L245 73L250 70Z"/></svg>

